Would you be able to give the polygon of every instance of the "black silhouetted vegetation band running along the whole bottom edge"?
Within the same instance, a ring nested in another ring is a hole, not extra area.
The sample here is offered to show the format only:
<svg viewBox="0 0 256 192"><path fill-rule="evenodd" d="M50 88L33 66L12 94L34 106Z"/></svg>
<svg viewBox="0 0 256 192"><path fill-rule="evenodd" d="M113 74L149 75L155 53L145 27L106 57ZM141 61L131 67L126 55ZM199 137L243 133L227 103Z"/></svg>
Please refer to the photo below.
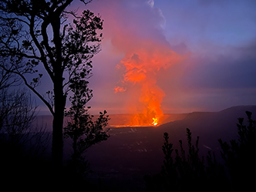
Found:
<svg viewBox="0 0 256 192"><path fill-rule="evenodd" d="M163 166L159 173L145 175L144 189L136 191L250 191L254 187L256 170L256 121L252 120L250 112L246 114L247 123L244 123L243 118L238 119L237 140L218 140L224 163L217 162L212 151L206 157L200 157L200 139L197 136L197 140L192 140L189 129L186 145L179 140L179 150L173 149L169 134L163 133ZM86 179L89 169L84 169L83 163L76 163L75 167L64 163L59 173L56 173L50 159L45 158L43 153L35 153L39 148L35 150L26 146L28 143L12 143L1 137L2 187L10 190L54 188L72 191L120 191L115 186L102 184L101 180L92 184ZM88 162L85 163L88 166ZM79 167L83 171L77 171ZM56 177L59 178L58 182ZM130 191L125 189L123 186L122 191Z"/></svg>

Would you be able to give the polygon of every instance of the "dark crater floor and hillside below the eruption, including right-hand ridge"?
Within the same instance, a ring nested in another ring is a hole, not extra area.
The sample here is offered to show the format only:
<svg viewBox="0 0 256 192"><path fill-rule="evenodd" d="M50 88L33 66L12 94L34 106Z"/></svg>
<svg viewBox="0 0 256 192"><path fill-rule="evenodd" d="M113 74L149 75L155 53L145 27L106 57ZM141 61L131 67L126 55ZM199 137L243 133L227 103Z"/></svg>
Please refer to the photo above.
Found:
<svg viewBox="0 0 256 192"><path fill-rule="evenodd" d="M88 150L87 157L95 171L91 177L120 182L158 173L163 163L163 133L169 133L174 148L180 149L178 140L184 140L186 148L186 128L192 132L192 142L200 136L200 155L212 150L221 160L217 140L229 141L237 137L237 118L246 117L246 110L251 111L255 119L256 106L235 106L216 113L189 113L183 120L157 127L111 128L109 140Z"/></svg>

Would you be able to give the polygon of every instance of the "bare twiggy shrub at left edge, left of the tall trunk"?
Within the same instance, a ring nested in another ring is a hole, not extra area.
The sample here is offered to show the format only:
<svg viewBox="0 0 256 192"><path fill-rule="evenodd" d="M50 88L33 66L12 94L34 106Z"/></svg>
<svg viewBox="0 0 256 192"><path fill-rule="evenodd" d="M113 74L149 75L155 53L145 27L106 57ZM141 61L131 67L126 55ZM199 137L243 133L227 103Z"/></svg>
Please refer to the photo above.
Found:
<svg viewBox="0 0 256 192"><path fill-rule="evenodd" d="M10 62L12 59L0 59L1 65L5 67ZM35 120L35 102L27 89L16 89L20 83L20 79L12 72L0 69L0 140L8 143L9 147L12 145L13 149L27 147L30 151L33 148L33 152L39 152L45 132L42 127L32 125Z"/></svg>

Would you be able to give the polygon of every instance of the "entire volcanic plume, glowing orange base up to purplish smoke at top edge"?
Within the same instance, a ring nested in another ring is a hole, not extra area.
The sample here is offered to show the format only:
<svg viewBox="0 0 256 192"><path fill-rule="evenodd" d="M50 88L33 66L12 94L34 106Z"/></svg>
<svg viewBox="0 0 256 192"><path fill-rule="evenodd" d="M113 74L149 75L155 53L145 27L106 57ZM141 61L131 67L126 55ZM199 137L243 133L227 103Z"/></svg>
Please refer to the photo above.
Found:
<svg viewBox="0 0 256 192"><path fill-rule="evenodd" d="M184 59L163 35L163 13L153 0L109 0L99 12L106 21L103 34L109 56L120 57L116 67L122 76L114 92L126 94L123 102L134 114L126 126L156 126L163 117L165 96L157 86L158 73Z"/></svg>

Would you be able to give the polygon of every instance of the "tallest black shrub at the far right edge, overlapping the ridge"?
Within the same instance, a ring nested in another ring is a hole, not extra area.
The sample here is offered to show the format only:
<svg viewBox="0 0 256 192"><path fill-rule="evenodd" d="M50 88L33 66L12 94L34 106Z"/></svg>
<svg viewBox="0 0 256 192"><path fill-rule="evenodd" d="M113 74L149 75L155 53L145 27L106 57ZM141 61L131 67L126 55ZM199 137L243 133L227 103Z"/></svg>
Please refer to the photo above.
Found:
<svg viewBox="0 0 256 192"><path fill-rule="evenodd" d="M256 179L256 121L251 119L251 112L246 111L248 125L244 118L238 118L238 140L230 143L221 139L221 157L225 161L231 178L232 191L249 191Z"/></svg>

